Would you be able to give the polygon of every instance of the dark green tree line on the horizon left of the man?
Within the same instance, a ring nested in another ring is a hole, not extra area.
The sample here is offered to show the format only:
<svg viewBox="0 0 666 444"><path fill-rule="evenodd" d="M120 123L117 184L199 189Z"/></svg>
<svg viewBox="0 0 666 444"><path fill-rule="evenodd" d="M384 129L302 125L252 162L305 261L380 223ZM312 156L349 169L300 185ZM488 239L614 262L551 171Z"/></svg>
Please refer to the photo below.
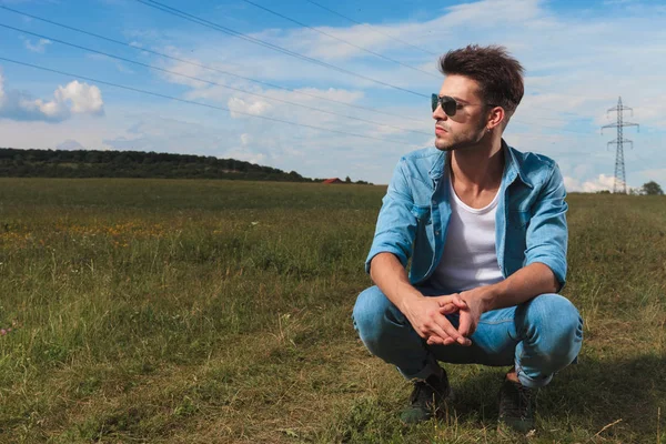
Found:
<svg viewBox="0 0 666 444"><path fill-rule="evenodd" d="M18 150L0 148L0 176L231 179L321 182L276 168L209 155L143 151ZM359 181L357 183L363 183ZM366 182L365 182L366 183Z"/></svg>

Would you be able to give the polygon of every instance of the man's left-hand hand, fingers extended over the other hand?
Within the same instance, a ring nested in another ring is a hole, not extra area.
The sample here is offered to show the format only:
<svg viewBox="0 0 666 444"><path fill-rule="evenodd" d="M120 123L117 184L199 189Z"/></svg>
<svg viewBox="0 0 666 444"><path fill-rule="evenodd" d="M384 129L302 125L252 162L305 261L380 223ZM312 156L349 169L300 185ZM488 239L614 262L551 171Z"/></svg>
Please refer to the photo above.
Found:
<svg viewBox="0 0 666 444"><path fill-rule="evenodd" d="M446 314L467 309L467 304L457 295L421 296L405 304L402 312L416 333L437 344L450 345L457 342L471 345L472 342L461 334L446 319Z"/></svg>

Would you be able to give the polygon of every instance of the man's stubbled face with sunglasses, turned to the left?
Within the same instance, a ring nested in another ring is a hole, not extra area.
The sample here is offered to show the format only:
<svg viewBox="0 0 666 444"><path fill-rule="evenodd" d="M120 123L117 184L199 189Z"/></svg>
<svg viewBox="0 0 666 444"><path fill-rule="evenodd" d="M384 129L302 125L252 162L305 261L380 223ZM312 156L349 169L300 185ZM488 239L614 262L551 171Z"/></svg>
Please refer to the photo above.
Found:
<svg viewBox="0 0 666 444"><path fill-rule="evenodd" d="M435 147L453 151L477 144L486 134L487 108L478 93L478 83L464 75L447 75L440 97L456 100L454 117L444 113L441 105L433 112L435 119Z"/></svg>

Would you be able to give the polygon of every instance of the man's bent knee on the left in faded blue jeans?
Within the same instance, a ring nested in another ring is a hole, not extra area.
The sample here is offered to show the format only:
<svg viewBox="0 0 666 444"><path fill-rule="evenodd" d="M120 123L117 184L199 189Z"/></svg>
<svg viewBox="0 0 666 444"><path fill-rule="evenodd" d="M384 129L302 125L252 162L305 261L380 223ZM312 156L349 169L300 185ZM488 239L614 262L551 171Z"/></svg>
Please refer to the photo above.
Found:
<svg viewBox="0 0 666 444"><path fill-rule="evenodd" d="M359 295L352 317L361 341L373 354L377 354L381 344L392 335L391 330L404 327L406 322L404 315L376 285Z"/></svg>

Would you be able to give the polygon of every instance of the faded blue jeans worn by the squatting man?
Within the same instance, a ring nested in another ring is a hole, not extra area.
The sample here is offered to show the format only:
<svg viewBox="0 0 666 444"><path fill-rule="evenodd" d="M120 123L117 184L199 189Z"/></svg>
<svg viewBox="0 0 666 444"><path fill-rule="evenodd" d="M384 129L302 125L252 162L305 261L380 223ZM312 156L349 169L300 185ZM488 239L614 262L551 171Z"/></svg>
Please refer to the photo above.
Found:
<svg viewBox="0 0 666 444"><path fill-rule="evenodd" d="M446 317L457 327L457 314ZM367 350L397 366L407 380L428 377L438 372L437 361L442 361L515 365L524 386L539 387L576 360L583 342L583 319L559 294L542 294L517 306L483 313L471 346L427 345L377 286L359 295L353 320Z"/></svg>

